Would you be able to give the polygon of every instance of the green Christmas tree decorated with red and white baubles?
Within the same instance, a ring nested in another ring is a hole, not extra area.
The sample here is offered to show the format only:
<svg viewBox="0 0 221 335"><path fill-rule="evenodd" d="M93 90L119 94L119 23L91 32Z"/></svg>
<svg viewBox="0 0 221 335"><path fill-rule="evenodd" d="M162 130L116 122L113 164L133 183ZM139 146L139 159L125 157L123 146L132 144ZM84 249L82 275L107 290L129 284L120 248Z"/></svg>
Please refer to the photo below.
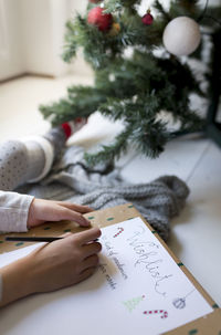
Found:
<svg viewBox="0 0 221 335"><path fill-rule="evenodd" d="M200 7L197 0L173 0L165 8L157 0L140 15L140 2L90 0L85 15L67 22L63 59L71 62L82 48L94 70L94 85L69 87L66 98L40 106L53 125L96 111L124 123L113 143L86 155L92 165L114 160L130 144L141 154L157 157L176 134L200 130L204 125L190 105L190 95L208 93L202 92L188 61L204 61L203 27L214 31L221 9L209 7L208 1Z"/></svg>

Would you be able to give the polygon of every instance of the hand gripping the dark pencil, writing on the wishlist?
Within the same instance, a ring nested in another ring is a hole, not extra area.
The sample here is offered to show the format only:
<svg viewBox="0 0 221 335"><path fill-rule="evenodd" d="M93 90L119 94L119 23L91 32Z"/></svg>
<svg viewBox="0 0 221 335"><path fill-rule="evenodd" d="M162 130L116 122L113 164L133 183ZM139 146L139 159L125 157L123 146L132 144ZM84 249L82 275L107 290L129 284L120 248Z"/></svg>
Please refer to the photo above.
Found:
<svg viewBox="0 0 221 335"><path fill-rule="evenodd" d="M33 292L54 291L92 275L102 250L101 243L94 241L99 235L101 230L92 228L33 251L29 255Z"/></svg>

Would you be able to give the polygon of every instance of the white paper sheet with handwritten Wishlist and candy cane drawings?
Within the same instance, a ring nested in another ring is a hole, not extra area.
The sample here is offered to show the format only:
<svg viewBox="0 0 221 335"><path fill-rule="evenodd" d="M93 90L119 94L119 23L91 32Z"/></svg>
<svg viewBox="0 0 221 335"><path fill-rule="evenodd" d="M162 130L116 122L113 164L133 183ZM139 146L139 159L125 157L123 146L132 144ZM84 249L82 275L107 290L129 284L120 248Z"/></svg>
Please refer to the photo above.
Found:
<svg viewBox="0 0 221 335"><path fill-rule="evenodd" d="M0 334L157 335L213 311L140 218L102 231L97 272L1 310ZM3 254L0 264L33 248Z"/></svg>

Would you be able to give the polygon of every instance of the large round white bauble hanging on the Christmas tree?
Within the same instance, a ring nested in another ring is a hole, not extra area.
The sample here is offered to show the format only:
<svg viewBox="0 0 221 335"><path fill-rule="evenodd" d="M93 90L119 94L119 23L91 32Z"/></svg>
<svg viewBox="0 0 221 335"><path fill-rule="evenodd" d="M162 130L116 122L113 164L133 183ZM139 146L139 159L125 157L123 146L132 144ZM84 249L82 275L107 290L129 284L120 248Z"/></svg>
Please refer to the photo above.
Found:
<svg viewBox="0 0 221 335"><path fill-rule="evenodd" d="M175 55L188 55L200 44L199 24L188 18L178 17L165 28L162 41L167 51Z"/></svg>

